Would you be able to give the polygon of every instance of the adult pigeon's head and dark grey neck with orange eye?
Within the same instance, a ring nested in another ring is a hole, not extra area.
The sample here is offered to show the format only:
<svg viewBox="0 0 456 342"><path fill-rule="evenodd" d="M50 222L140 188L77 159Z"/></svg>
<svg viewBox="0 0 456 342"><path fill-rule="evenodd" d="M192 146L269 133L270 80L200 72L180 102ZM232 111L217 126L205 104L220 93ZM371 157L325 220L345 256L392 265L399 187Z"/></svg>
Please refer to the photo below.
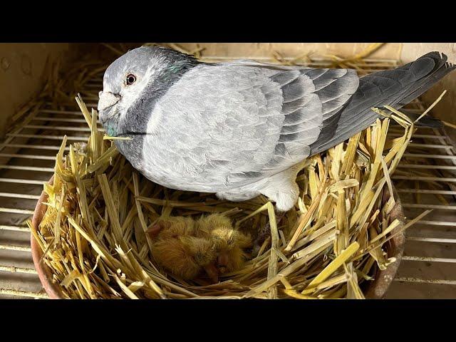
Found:
<svg viewBox="0 0 456 342"><path fill-rule="evenodd" d="M142 46L120 56L106 69L103 91L98 94L100 121L108 134L117 135L113 127L129 112L129 116L135 115L138 108L150 106L152 113L156 100L197 63L192 56L155 46Z"/></svg>

